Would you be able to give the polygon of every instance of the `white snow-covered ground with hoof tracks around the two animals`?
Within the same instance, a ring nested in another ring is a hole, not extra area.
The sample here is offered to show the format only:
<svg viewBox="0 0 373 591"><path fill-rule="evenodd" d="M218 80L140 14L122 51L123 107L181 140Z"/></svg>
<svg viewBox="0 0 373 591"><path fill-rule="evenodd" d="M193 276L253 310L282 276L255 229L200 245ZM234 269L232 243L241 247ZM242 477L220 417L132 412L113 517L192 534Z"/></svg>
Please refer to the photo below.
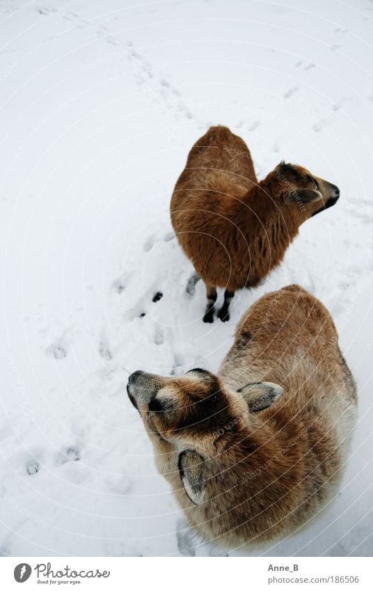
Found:
<svg viewBox="0 0 373 591"><path fill-rule="evenodd" d="M216 553L157 474L125 368L217 370L249 304L297 282L333 314L359 421L338 498L266 554L372 555L372 18L372 0L1 1L1 554ZM206 325L168 205L211 124L260 178L285 159L341 198Z"/></svg>

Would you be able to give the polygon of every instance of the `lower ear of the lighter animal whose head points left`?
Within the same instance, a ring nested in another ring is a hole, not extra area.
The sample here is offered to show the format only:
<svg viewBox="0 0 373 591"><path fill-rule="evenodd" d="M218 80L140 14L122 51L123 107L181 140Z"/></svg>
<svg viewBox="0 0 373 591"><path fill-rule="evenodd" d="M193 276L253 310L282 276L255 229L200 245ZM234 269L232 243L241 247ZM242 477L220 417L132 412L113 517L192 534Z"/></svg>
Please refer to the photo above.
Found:
<svg viewBox="0 0 373 591"><path fill-rule="evenodd" d="M206 491L203 478L203 464L205 460L197 452L184 450L179 455L179 473L184 490L194 505L200 505Z"/></svg>

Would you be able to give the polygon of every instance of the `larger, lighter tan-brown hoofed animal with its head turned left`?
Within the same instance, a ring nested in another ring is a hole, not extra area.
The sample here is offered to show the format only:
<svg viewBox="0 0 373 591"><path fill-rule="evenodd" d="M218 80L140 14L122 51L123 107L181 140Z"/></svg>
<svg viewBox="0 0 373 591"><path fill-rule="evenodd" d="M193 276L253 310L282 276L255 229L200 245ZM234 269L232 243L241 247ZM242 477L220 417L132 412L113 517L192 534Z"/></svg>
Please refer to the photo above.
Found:
<svg viewBox="0 0 373 591"><path fill-rule="evenodd" d="M331 315L299 285L251 306L218 376L138 371L127 392L159 473L209 541L285 537L337 494L356 386Z"/></svg>

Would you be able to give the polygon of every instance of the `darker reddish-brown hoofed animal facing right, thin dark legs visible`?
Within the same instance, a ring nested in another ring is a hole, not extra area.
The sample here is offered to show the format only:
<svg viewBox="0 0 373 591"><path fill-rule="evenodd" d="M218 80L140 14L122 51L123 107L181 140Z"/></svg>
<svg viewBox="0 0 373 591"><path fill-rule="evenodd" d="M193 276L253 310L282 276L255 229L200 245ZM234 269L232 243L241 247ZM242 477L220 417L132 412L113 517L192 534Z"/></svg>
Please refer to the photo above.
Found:
<svg viewBox="0 0 373 591"><path fill-rule="evenodd" d="M189 152L170 215L177 239L207 290L204 322L221 320L235 291L255 287L279 265L299 226L331 207L340 191L302 166L281 162L258 181L246 143L228 127L210 127Z"/></svg>

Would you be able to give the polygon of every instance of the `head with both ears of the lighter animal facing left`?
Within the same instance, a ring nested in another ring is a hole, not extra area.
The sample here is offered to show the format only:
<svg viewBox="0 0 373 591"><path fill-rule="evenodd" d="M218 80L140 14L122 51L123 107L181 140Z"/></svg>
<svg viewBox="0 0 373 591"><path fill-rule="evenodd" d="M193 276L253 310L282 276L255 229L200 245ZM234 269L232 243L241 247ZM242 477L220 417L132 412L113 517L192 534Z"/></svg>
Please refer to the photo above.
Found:
<svg viewBox="0 0 373 591"><path fill-rule="evenodd" d="M267 409L283 392L271 382L228 391L219 377L194 369L182 377L145 372L129 376L127 393L138 409L150 439L176 452L184 491L195 505L203 503L209 479L221 472L227 448L246 439L251 413ZM230 466L228 466L228 469Z"/></svg>

